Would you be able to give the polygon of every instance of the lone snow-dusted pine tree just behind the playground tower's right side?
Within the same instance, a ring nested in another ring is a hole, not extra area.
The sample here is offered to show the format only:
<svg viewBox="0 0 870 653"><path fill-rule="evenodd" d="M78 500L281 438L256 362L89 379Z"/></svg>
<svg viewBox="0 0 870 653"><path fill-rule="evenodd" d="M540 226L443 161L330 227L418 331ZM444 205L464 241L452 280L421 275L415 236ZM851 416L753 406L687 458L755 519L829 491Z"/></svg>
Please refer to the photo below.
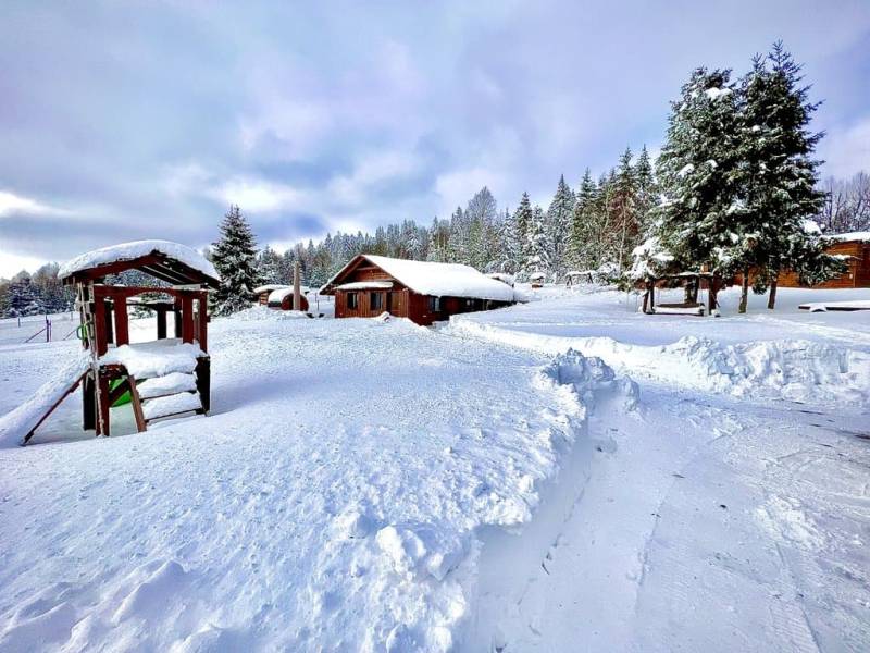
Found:
<svg viewBox="0 0 870 653"><path fill-rule="evenodd" d="M214 312L221 316L248 308L251 291L260 285L257 273L257 242L248 221L236 205L221 223L221 237L213 245L212 262L221 275L214 293Z"/></svg>

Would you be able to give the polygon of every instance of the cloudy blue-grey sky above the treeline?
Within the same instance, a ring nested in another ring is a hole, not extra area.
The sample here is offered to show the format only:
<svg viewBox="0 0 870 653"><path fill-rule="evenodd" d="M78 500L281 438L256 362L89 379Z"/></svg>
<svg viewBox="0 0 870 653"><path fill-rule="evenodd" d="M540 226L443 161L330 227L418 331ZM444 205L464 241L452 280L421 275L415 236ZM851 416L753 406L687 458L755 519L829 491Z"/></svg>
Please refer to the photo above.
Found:
<svg viewBox="0 0 870 653"><path fill-rule="evenodd" d="M779 38L825 174L870 168L867 0L0 5L0 275L138 238L201 247L229 202L278 248L428 223L487 185L546 202L661 145L699 64Z"/></svg>

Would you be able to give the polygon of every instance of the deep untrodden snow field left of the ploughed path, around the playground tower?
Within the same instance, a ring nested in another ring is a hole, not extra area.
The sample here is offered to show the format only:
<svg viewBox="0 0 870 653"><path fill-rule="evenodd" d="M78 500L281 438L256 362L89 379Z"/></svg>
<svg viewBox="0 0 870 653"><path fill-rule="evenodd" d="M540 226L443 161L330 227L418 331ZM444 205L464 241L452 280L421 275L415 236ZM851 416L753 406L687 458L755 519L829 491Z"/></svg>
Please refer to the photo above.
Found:
<svg viewBox="0 0 870 653"><path fill-rule="evenodd" d="M44 444L0 449L0 649L461 638L475 530L531 518L595 379L403 320L240 318L213 324L210 417L95 440L76 399ZM0 410L40 381L20 362L48 375L75 346L0 350ZM123 433L129 408L113 410Z"/></svg>

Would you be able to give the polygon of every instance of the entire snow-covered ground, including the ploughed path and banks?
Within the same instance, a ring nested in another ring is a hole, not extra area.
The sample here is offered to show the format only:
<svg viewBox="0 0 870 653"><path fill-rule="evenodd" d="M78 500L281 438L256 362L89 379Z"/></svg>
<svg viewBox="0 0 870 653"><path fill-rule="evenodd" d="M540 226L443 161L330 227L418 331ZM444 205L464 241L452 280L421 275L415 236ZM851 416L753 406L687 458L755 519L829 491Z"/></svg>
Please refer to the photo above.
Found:
<svg viewBox="0 0 870 653"><path fill-rule="evenodd" d="M215 320L144 434L69 401L0 448L0 650L868 650L870 312L535 295ZM0 344L0 412L76 346Z"/></svg>

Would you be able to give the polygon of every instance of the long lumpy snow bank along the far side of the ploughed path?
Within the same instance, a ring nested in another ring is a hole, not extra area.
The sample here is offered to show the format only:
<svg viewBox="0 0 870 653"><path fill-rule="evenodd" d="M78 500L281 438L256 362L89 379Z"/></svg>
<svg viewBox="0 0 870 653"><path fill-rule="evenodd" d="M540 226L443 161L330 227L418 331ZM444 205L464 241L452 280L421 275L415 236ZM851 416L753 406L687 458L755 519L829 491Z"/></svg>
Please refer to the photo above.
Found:
<svg viewBox="0 0 870 653"><path fill-rule="evenodd" d="M825 343L788 340L724 345L684 336L647 346L610 337L564 337L513 331L455 316L458 333L545 354L575 348L633 377L735 396L860 404L870 401L870 355Z"/></svg>

